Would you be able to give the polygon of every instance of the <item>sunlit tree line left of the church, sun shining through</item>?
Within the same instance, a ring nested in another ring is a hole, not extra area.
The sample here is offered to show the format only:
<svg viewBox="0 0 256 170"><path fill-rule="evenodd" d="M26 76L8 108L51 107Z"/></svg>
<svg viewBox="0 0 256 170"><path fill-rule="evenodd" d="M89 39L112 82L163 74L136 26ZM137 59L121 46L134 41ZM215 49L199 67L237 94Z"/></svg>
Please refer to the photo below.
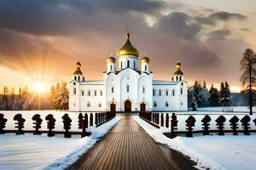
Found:
<svg viewBox="0 0 256 170"><path fill-rule="evenodd" d="M3 87L0 94L0 110L28 111L28 110L68 110L67 82L58 82L50 88L48 93L38 94L30 91L26 86L15 88Z"/></svg>

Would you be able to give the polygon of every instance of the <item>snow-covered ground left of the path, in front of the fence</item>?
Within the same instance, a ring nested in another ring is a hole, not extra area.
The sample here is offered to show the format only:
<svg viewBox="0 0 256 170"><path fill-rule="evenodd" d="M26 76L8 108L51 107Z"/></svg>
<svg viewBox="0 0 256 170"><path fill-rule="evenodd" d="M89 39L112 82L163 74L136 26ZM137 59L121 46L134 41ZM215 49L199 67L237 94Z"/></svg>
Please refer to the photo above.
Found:
<svg viewBox="0 0 256 170"><path fill-rule="evenodd" d="M90 137L0 134L0 169L63 169L89 150L120 120L113 120L100 127L90 127Z"/></svg>

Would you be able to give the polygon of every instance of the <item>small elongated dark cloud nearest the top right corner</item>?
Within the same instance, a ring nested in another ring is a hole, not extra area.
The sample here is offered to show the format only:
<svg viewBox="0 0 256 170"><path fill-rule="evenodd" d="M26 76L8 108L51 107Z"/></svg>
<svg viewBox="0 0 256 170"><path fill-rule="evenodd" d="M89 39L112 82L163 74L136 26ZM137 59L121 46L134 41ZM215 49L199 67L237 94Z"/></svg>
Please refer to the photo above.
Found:
<svg viewBox="0 0 256 170"><path fill-rule="evenodd" d="M247 16L245 16L245 15L236 14L236 13L232 14L232 13L228 13L225 11L220 11L220 12L210 14L209 17L212 20L224 20L224 21L231 20L231 19L236 19L236 20L246 20L247 19Z"/></svg>

